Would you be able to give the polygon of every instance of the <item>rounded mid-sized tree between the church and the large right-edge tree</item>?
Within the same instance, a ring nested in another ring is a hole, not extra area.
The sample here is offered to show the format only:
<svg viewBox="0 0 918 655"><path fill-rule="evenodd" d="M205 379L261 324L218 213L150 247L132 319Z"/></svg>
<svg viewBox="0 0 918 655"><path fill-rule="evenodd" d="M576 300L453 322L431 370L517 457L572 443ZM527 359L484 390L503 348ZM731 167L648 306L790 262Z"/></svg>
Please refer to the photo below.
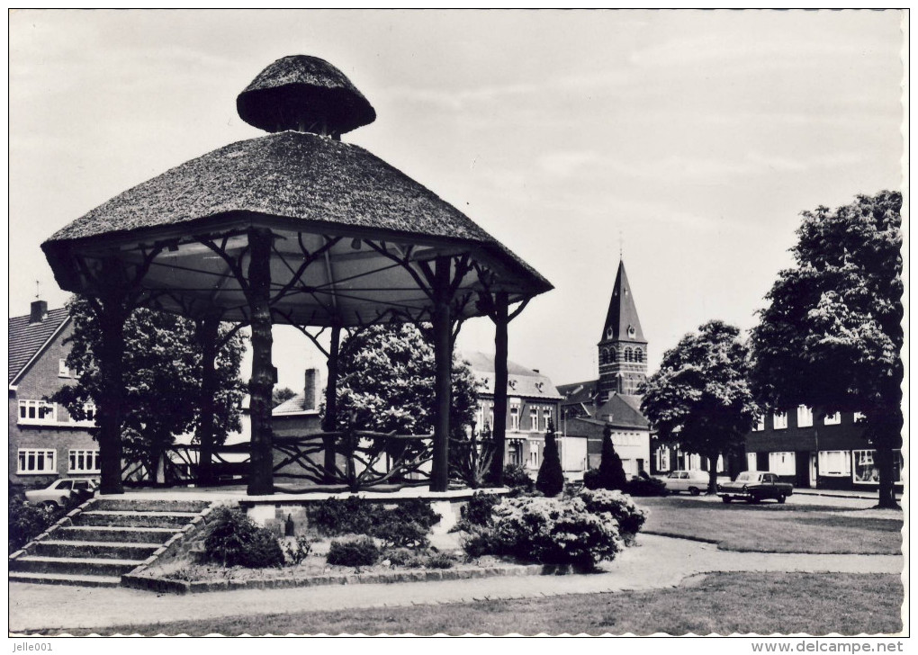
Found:
<svg viewBox="0 0 918 655"><path fill-rule="evenodd" d="M714 320L667 350L644 388L641 411L659 439L711 462L709 494L717 493L718 458L741 450L756 421L749 371L740 329Z"/></svg>

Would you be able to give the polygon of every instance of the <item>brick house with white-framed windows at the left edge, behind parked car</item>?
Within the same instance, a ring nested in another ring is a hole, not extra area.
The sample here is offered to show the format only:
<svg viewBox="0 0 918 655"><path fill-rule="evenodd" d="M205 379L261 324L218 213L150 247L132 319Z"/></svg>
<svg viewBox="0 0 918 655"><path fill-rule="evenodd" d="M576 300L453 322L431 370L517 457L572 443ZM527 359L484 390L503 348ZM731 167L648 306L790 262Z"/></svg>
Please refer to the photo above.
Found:
<svg viewBox="0 0 918 655"><path fill-rule="evenodd" d="M65 307L48 310L36 300L27 316L9 319L9 481L38 486L61 476L99 474L99 447L89 433L90 418L75 421L66 408L45 400L72 383L67 369L70 351L64 341L73 333Z"/></svg>

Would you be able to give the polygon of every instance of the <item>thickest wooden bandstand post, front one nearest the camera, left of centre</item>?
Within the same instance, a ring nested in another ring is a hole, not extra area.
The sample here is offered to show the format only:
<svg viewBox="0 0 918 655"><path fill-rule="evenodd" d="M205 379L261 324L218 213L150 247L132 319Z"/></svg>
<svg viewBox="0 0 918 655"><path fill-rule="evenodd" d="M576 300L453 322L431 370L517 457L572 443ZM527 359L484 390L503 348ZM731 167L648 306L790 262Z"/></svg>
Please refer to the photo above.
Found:
<svg viewBox="0 0 918 655"><path fill-rule="evenodd" d="M271 429L271 394L274 365L271 362L271 230L249 231L249 308L252 316L252 379L249 382L252 415L252 458L249 464L249 495L274 493Z"/></svg>

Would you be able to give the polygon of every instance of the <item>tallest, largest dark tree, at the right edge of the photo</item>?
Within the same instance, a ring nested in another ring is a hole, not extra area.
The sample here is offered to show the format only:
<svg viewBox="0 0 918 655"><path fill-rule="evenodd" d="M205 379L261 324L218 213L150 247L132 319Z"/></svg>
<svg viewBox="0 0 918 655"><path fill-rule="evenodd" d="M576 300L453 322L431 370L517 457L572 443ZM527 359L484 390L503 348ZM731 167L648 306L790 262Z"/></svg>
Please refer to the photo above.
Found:
<svg viewBox="0 0 918 655"><path fill-rule="evenodd" d="M779 408L860 412L877 450L879 506L896 507L903 316L899 192L802 213L796 265L778 273L752 333L756 390Z"/></svg>

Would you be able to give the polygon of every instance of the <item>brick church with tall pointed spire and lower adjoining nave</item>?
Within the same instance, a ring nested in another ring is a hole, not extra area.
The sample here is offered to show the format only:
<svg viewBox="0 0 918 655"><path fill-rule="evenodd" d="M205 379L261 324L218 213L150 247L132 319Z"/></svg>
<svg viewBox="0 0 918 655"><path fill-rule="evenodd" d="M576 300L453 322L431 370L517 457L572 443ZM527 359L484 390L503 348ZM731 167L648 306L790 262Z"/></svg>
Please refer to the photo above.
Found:
<svg viewBox="0 0 918 655"><path fill-rule="evenodd" d="M599 467L602 433L608 426L612 444L625 473L637 475L650 468L650 424L641 413L637 394L647 380L647 345L634 304L624 261L619 261L609 311L599 336L599 378L561 384L561 432L582 439L587 465Z"/></svg>

